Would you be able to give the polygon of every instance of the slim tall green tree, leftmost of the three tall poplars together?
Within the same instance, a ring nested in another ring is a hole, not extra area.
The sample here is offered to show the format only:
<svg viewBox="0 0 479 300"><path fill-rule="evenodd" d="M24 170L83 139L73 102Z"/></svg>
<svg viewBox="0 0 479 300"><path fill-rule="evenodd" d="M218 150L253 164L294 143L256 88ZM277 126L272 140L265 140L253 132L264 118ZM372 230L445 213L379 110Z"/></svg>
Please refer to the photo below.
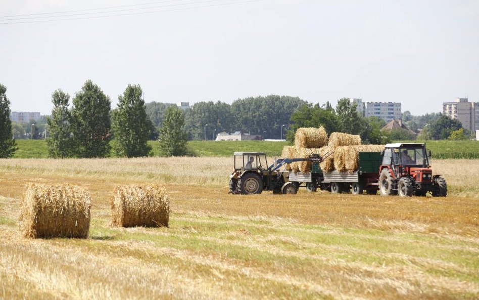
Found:
<svg viewBox="0 0 479 300"><path fill-rule="evenodd" d="M52 93L52 116L47 118L49 137L46 139L49 157L72 155L71 114L68 110L70 95L62 90Z"/></svg>

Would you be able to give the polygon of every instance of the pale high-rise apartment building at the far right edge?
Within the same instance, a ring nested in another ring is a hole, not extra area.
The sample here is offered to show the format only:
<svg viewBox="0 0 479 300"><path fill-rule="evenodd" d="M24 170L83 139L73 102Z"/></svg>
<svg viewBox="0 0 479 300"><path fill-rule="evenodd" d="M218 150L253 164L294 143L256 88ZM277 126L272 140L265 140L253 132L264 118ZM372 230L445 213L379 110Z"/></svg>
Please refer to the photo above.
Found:
<svg viewBox="0 0 479 300"><path fill-rule="evenodd" d="M467 98L454 98L443 103L443 114L458 119L462 127L471 132L479 129L479 102L468 102Z"/></svg>

